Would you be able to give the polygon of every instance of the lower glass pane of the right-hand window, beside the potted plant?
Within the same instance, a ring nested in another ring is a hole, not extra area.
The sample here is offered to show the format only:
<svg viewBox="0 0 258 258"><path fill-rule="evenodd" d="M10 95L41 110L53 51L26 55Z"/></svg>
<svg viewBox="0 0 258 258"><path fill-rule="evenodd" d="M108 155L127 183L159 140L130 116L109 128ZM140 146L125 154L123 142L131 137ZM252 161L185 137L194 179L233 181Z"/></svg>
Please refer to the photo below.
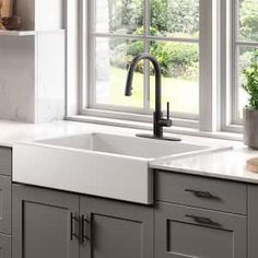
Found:
<svg viewBox="0 0 258 258"><path fill-rule="evenodd" d="M243 70L247 69L251 62L255 61L255 52L258 52L258 47L238 47L238 117L243 118L243 108L247 105L248 102L248 95L243 89L243 82L245 82L245 77L243 74Z"/></svg>

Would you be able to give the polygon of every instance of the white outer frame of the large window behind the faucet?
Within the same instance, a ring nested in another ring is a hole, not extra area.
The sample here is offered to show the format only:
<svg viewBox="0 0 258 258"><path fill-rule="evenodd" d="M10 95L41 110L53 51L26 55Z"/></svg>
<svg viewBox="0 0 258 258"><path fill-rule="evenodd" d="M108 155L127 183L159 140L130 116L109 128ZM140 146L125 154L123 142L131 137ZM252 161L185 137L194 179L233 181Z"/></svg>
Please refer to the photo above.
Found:
<svg viewBox="0 0 258 258"><path fill-rule="evenodd" d="M224 0L222 0L223 2ZM150 113L122 113L118 108L89 108L87 60L87 15L85 0L67 0L67 117L96 116L151 122ZM219 109L223 103L220 97L221 74L220 63L220 7L221 0L200 0L200 92L199 117L184 114L172 114L174 126L190 127L201 131L218 131L221 129L222 113ZM145 14L146 15L146 14ZM157 38L160 39L160 38ZM166 40L169 40L165 38ZM173 39L172 39L173 40ZM175 39L174 39L175 40ZM185 39L184 39L185 40ZM72 68L71 68L72 67ZM68 69L69 68L69 69ZM144 85L148 85L145 82ZM125 107L122 107L125 108ZM223 108L222 108L223 109Z"/></svg>

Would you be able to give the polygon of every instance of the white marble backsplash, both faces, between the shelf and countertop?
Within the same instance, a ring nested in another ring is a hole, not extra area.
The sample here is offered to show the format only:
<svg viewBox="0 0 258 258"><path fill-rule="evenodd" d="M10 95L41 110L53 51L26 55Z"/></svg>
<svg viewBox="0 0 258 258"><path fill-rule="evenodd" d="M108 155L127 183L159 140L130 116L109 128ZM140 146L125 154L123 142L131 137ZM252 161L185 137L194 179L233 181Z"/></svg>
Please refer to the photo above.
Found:
<svg viewBox="0 0 258 258"><path fill-rule="evenodd" d="M64 117L64 32L0 35L0 119L45 122Z"/></svg>

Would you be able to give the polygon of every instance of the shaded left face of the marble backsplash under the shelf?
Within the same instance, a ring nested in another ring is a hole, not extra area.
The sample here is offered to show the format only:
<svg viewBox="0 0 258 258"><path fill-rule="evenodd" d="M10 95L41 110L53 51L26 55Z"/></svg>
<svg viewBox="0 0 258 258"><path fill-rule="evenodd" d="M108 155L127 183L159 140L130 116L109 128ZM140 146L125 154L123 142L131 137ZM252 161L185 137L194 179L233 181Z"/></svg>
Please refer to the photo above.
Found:
<svg viewBox="0 0 258 258"><path fill-rule="evenodd" d="M0 37L0 119L34 121L31 37Z"/></svg>

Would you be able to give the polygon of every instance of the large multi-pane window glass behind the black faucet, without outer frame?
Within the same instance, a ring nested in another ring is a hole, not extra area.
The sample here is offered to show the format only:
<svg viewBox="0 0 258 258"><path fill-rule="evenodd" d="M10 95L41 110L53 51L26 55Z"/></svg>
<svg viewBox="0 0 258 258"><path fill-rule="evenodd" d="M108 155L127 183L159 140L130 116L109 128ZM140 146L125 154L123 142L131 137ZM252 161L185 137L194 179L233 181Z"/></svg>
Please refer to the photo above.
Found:
<svg viewBox="0 0 258 258"><path fill-rule="evenodd" d="M199 0L95 0L89 10L86 107L152 114L154 74L148 61L137 69L132 96L125 96L127 67L146 51L161 63L163 107L171 102L174 117L198 119Z"/></svg>

